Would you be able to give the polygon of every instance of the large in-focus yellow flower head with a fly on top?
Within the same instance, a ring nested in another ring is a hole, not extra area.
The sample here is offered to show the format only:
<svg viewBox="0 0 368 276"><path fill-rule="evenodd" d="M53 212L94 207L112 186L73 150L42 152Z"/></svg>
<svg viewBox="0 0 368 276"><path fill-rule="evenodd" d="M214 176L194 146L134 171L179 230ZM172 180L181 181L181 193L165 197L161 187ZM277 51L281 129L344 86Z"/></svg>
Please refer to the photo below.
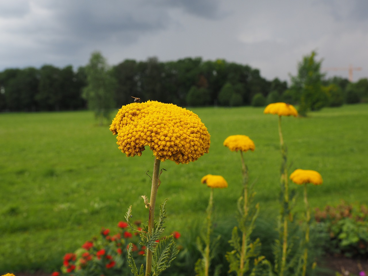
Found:
<svg viewBox="0 0 368 276"><path fill-rule="evenodd" d="M189 163L208 153L210 135L201 119L171 103L148 101L121 107L110 130L127 156L141 156L145 146L157 159Z"/></svg>

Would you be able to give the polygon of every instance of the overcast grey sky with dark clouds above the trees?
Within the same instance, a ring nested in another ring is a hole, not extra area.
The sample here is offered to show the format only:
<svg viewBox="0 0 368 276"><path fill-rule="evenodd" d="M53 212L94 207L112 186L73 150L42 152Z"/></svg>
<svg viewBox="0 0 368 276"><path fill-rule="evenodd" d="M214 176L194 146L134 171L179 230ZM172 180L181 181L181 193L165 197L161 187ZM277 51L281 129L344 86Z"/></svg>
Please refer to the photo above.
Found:
<svg viewBox="0 0 368 276"><path fill-rule="evenodd" d="M225 59L289 81L312 50L368 77L367 0L0 0L0 71L156 56Z"/></svg>

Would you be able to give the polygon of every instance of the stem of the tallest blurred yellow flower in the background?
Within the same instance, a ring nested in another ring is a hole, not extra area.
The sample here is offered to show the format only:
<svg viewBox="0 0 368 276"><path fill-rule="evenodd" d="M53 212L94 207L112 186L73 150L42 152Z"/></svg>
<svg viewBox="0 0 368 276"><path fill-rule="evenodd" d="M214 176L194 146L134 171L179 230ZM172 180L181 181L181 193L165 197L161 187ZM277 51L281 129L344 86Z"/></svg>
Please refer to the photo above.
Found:
<svg viewBox="0 0 368 276"><path fill-rule="evenodd" d="M284 275L284 269L286 266L286 255L287 255L287 215L289 213L289 184L287 179L287 156L286 156L286 148L284 145L284 139L282 137L281 130L281 116L279 116L279 136L280 136L280 146L281 146L281 155L282 155L282 175L281 181L283 184L283 192L284 192L284 206L286 206L287 210L283 210L283 244L282 244L282 259L281 259L281 268L280 268L280 276Z"/></svg>

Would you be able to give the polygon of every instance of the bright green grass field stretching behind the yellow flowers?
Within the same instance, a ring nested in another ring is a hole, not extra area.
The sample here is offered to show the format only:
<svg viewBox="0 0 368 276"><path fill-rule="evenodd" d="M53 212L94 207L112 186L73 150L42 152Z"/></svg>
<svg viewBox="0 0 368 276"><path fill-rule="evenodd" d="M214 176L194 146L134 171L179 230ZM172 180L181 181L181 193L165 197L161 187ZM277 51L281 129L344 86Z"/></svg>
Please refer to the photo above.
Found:
<svg viewBox="0 0 368 276"><path fill-rule="evenodd" d="M200 180L206 174L221 174L229 183L214 193L217 223L234 217L240 154L222 145L234 134L255 142L255 151L245 153L250 182L260 216L273 221L280 208L277 116L254 107L191 110L211 134L210 152L190 164L161 164L167 171L158 202L169 198L167 232L178 230L185 239L191 224L205 217L209 190ZM309 187L312 208L341 199L368 204L367 104L283 117L282 128L289 174L312 169L323 177L322 186ZM101 227L114 231L130 205L133 219L147 220L141 195L151 191L145 172L152 172L152 152L127 158L109 127L98 127L91 112L0 114L0 148L0 274L60 268L63 255ZM296 210L302 207L299 196Z"/></svg>

